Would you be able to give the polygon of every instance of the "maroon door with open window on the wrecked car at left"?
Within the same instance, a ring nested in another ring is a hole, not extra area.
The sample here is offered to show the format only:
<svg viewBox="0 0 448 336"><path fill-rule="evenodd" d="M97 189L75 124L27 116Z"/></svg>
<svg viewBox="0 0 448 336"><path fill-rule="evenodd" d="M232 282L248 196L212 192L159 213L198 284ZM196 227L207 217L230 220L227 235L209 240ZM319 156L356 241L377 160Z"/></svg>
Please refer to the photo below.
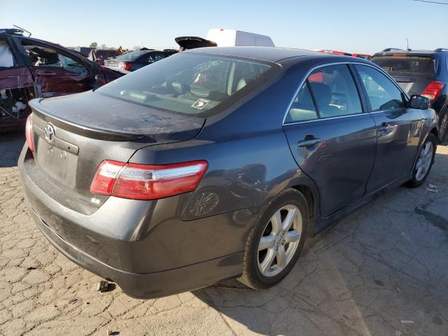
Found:
<svg viewBox="0 0 448 336"><path fill-rule="evenodd" d="M52 45L27 38L18 39L42 97L84 92L92 88L92 73L80 57Z"/></svg>

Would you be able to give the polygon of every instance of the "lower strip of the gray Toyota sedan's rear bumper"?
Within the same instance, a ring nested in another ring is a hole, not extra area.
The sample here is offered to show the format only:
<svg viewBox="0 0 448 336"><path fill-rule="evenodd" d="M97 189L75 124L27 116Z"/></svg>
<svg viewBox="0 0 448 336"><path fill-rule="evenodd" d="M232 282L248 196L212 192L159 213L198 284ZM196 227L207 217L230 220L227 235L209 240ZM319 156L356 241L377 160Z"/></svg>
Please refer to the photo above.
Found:
<svg viewBox="0 0 448 336"><path fill-rule="evenodd" d="M66 258L104 279L118 283L123 292L132 297L148 299L181 293L209 286L241 272L244 256L242 252L162 272L150 274L125 272L80 251L45 225L35 211L31 210L31 214L45 238Z"/></svg>

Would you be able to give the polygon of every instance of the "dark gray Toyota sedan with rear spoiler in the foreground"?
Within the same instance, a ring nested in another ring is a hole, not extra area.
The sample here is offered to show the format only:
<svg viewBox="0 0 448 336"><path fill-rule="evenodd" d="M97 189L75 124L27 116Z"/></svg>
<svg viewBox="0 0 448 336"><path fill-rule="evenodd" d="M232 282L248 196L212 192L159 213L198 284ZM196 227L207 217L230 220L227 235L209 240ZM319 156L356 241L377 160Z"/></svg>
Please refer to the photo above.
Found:
<svg viewBox="0 0 448 336"><path fill-rule="evenodd" d="M433 165L437 116L364 59L179 52L31 101L19 170L38 228L134 297L268 288L307 235Z"/></svg>

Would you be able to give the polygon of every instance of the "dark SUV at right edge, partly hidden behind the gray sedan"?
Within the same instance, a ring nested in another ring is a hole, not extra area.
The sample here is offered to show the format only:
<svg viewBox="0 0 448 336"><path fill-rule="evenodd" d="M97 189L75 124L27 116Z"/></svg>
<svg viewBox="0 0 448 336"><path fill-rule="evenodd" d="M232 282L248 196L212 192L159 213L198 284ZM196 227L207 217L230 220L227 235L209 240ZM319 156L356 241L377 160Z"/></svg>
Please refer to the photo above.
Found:
<svg viewBox="0 0 448 336"><path fill-rule="evenodd" d="M407 94L430 99L443 139L448 129L448 49L388 48L373 55L372 62L386 70Z"/></svg>

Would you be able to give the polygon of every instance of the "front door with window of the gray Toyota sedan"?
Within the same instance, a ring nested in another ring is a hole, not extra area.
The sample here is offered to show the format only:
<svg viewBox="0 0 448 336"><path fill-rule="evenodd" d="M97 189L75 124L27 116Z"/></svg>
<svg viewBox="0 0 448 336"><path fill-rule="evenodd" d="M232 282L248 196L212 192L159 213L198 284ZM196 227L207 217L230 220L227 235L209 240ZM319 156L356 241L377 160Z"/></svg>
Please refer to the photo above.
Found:
<svg viewBox="0 0 448 336"><path fill-rule="evenodd" d="M405 94L384 73L373 66L355 68L377 125L377 159L367 184L371 193L412 171L423 119L419 110L407 108Z"/></svg>

